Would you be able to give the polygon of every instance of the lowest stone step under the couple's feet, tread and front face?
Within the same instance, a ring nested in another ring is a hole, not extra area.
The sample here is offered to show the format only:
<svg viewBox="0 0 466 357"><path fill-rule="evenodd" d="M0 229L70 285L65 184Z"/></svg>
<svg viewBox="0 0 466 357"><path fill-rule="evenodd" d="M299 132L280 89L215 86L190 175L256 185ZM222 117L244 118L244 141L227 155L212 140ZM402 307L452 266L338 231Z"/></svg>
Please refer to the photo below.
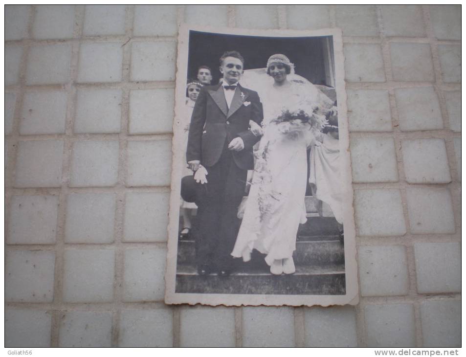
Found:
<svg viewBox="0 0 466 357"><path fill-rule="evenodd" d="M228 277L201 276L195 266L179 265L175 290L180 293L342 295L346 292L346 281L341 265L297 267L289 275L242 269Z"/></svg>

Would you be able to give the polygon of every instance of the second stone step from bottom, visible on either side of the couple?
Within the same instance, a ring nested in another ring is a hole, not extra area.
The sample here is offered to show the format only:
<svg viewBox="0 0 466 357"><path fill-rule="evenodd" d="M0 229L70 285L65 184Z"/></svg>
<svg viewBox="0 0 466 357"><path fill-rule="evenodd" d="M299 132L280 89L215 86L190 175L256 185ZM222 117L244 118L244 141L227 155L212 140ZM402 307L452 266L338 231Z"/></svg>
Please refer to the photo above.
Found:
<svg viewBox="0 0 466 357"><path fill-rule="evenodd" d="M192 240L178 242L178 263L195 263L195 242ZM265 255L256 250L253 251L251 260L264 260ZM344 247L336 237L333 240L324 241L297 241L296 250L293 254L296 266L301 265L329 265L344 264Z"/></svg>

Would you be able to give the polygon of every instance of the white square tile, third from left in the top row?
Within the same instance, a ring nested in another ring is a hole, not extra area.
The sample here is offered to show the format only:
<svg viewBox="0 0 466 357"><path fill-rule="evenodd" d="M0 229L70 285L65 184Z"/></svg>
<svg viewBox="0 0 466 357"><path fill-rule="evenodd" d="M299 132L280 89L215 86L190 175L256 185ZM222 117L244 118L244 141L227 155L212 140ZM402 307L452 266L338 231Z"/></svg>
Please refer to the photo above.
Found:
<svg viewBox="0 0 466 357"><path fill-rule="evenodd" d="M123 35L125 16L125 5L86 5L83 35Z"/></svg>

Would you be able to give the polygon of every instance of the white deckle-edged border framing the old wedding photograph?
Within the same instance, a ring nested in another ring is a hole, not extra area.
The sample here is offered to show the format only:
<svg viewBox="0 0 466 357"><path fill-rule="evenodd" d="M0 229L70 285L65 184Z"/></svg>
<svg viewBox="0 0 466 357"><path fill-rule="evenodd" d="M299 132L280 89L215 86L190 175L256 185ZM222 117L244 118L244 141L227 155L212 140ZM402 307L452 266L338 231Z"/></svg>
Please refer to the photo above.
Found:
<svg viewBox="0 0 466 357"><path fill-rule="evenodd" d="M333 51L335 64L335 90L338 103L338 131L341 159L341 177L343 188L343 225L345 231L345 295L286 295L286 294L218 294L218 293L177 293L177 252L178 252L178 222L180 181L184 163L184 143L182 142L181 115L185 107L186 78L188 70L189 32L202 31L225 35L264 36L264 37L314 37L333 36ZM358 283L355 246L355 222L353 207L353 187L351 157L349 152L349 130L347 116L347 95L345 90L345 71L342 34L339 28L328 28L312 31L300 30L253 30L226 27L193 26L181 24L178 31L178 57L175 90L175 120L172 141L172 175L171 196L168 225L168 251L165 273L165 303L166 304L203 304L203 305L267 305L267 306L330 306L356 305L358 303Z"/></svg>

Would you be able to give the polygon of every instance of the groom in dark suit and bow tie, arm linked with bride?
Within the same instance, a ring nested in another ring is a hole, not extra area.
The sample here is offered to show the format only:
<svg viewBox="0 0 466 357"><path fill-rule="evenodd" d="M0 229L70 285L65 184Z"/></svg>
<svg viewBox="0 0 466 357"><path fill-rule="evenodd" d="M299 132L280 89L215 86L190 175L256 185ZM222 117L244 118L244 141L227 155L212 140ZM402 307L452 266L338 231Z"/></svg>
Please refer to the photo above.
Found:
<svg viewBox="0 0 466 357"><path fill-rule="evenodd" d="M249 120L261 123L262 104L257 92L240 86L244 58L237 51L220 58L222 83L204 86L189 128L186 158L193 171L202 165L207 183L197 184L198 213L192 235L200 275L217 271L228 276L230 256L238 234L238 206L244 195L247 170L253 169L252 146L259 141Z"/></svg>

